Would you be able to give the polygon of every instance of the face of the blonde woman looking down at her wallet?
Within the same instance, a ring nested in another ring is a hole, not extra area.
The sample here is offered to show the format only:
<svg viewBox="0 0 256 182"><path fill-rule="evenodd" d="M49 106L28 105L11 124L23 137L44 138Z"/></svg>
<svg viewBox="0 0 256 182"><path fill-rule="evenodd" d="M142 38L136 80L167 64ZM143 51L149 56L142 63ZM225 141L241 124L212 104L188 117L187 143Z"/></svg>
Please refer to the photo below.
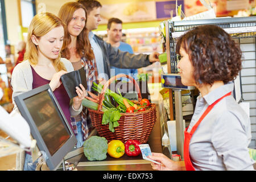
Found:
<svg viewBox="0 0 256 182"><path fill-rule="evenodd" d="M39 55L42 54L48 59L57 59L63 46L63 26L53 28L46 35L38 38L32 36L32 42L38 46Z"/></svg>

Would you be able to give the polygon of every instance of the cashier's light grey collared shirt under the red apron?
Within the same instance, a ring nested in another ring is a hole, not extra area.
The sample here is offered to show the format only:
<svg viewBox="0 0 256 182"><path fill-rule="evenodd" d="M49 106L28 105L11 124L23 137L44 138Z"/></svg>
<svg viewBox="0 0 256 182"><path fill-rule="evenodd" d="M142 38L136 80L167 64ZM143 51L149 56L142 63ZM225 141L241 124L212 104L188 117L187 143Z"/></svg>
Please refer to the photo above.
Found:
<svg viewBox="0 0 256 182"><path fill-rule="evenodd" d="M204 97L197 97L188 132L209 105L233 89L233 82L229 82ZM201 121L191 138L189 154L193 167L196 170L253 170L254 161L247 150L250 127L250 118L234 97L223 98Z"/></svg>

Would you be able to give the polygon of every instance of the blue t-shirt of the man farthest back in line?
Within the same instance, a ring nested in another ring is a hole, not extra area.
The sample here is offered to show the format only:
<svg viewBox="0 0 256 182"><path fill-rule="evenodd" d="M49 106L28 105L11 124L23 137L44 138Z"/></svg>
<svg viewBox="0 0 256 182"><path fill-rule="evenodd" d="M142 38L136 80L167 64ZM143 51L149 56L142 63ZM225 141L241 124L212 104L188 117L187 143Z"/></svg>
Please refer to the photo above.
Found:
<svg viewBox="0 0 256 182"><path fill-rule="evenodd" d="M131 48L131 46L129 44L124 43L124 42L120 42L118 49L123 52L133 53L133 48ZM130 75L135 80L137 79L137 75L138 75L137 69L123 69L123 68L116 68L116 67L111 67L111 69L114 69L114 75L118 75L118 74L122 73L125 75ZM111 72L113 72L113 71L111 71ZM126 78L122 78L122 80L127 81Z"/></svg>

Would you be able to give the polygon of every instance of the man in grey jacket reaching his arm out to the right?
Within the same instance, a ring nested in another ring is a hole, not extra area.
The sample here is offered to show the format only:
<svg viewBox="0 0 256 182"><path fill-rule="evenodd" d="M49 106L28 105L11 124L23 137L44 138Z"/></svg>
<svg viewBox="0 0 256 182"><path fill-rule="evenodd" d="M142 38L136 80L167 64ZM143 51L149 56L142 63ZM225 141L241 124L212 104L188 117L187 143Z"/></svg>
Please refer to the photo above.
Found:
<svg viewBox="0 0 256 182"><path fill-rule="evenodd" d="M95 0L79 0L79 3L84 5L88 11L86 28L89 31L90 44L93 47L94 56L96 59L98 76L108 80L110 77L114 76L113 73L110 74L110 68L142 68L159 61L158 52L152 52L150 55L138 54L134 55L129 52L123 52L119 49L111 46L111 44L106 43L97 35L92 32L98 28L101 21L100 11L101 3Z"/></svg>

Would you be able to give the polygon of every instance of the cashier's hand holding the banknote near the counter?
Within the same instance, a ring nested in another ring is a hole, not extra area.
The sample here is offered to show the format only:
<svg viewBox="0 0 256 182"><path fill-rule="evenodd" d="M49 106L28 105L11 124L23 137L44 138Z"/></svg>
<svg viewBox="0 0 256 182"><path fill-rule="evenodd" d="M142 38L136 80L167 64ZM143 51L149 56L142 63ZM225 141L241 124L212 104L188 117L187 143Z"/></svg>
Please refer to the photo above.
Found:
<svg viewBox="0 0 256 182"><path fill-rule="evenodd" d="M148 158L162 164L160 165L160 164L151 162L151 166L154 170L158 170L158 171L178 170L176 162L174 160L169 159L164 154L152 152L152 155L148 156Z"/></svg>

